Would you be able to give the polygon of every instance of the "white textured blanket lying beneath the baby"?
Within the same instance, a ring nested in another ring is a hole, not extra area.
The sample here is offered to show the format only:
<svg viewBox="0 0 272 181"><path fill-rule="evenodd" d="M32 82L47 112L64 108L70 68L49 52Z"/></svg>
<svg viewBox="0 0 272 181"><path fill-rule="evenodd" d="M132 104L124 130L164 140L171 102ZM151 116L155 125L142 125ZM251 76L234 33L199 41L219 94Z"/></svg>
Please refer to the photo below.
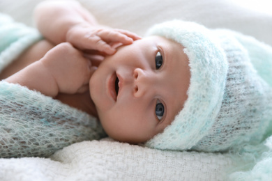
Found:
<svg viewBox="0 0 272 181"><path fill-rule="evenodd" d="M167 152L115 141L84 141L56 152L51 159L1 159L0 180L220 181L236 164L230 155Z"/></svg>

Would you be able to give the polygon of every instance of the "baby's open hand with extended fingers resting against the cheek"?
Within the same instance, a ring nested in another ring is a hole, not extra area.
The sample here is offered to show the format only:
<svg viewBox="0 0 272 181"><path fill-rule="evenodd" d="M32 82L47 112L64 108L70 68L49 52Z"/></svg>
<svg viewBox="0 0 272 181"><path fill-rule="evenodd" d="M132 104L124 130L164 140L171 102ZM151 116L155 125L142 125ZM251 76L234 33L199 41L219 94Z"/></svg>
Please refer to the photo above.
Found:
<svg viewBox="0 0 272 181"><path fill-rule="evenodd" d="M140 39L135 33L121 29L109 29L89 24L72 26L67 34L66 41L75 47L85 50L93 49L105 54L114 54L114 45L130 45L134 40Z"/></svg>

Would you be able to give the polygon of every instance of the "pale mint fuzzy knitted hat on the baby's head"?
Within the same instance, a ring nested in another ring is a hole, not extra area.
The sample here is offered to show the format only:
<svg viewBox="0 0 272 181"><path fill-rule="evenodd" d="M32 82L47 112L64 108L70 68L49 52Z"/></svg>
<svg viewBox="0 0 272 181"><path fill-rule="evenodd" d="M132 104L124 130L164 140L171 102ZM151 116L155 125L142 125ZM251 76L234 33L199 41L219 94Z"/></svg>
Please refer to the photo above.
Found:
<svg viewBox="0 0 272 181"><path fill-rule="evenodd" d="M149 29L147 35L163 36L185 47L181 51L189 58L191 77L183 109L146 146L161 150L226 150L248 141L249 135L256 136L253 133L267 126L262 122L267 120L262 107L269 104L269 99L271 102L271 88L259 80L238 42L215 34L202 25L179 20ZM263 96L256 86L270 97ZM253 115L252 111L260 113Z"/></svg>

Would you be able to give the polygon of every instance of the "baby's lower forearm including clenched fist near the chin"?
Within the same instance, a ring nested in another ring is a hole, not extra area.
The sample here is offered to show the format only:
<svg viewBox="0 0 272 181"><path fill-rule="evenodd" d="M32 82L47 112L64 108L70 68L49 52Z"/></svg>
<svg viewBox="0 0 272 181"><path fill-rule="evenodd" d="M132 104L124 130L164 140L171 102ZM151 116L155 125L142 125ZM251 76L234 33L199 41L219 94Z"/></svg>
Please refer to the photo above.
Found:
<svg viewBox="0 0 272 181"><path fill-rule="evenodd" d="M95 68L82 52L63 42L36 61L5 79L13 84L55 97L58 93L83 93Z"/></svg>

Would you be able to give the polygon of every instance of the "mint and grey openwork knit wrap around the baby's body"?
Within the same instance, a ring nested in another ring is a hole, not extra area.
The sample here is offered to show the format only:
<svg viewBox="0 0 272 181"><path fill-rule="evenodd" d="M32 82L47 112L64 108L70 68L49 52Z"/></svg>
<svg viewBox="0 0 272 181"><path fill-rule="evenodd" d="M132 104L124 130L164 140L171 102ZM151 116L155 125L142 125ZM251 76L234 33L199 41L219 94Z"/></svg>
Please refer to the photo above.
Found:
<svg viewBox="0 0 272 181"><path fill-rule="evenodd" d="M0 14L0 72L40 38L35 29ZM103 136L99 121L89 114L0 81L0 157L49 157L72 143Z"/></svg>

